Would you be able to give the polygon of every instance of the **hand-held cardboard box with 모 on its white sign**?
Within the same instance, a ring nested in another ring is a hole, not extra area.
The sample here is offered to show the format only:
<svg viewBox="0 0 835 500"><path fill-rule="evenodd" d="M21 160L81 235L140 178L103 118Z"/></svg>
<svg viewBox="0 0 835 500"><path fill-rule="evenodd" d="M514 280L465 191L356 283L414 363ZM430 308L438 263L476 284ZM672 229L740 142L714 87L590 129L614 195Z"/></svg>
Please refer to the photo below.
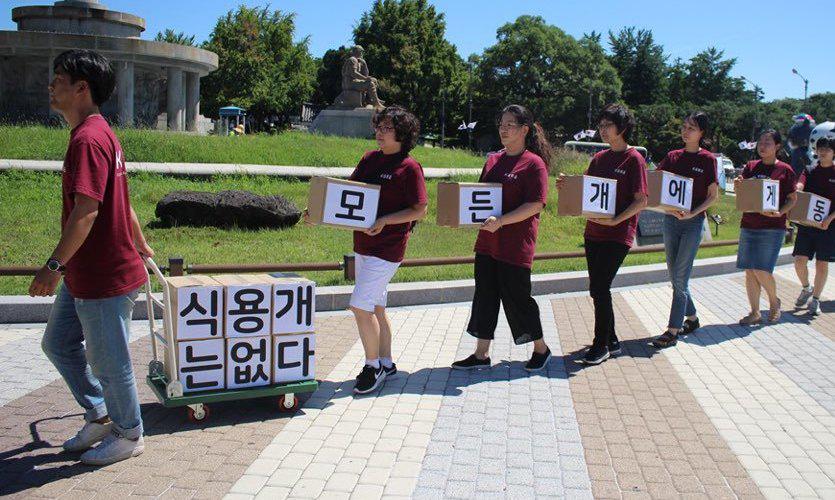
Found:
<svg viewBox="0 0 835 500"><path fill-rule="evenodd" d="M314 224L343 229L368 229L377 220L380 186L314 177L310 179L307 211Z"/></svg>

